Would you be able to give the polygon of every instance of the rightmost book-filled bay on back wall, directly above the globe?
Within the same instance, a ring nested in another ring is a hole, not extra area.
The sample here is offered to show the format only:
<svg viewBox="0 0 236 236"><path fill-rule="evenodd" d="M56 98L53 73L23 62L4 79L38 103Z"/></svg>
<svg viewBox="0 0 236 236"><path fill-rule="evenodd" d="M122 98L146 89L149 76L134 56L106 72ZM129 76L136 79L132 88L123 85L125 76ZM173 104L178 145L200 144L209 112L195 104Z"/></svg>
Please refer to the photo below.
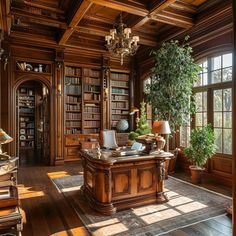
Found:
<svg viewBox="0 0 236 236"><path fill-rule="evenodd" d="M119 120L129 120L129 74L111 72L111 129L116 128Z"/></svg>

